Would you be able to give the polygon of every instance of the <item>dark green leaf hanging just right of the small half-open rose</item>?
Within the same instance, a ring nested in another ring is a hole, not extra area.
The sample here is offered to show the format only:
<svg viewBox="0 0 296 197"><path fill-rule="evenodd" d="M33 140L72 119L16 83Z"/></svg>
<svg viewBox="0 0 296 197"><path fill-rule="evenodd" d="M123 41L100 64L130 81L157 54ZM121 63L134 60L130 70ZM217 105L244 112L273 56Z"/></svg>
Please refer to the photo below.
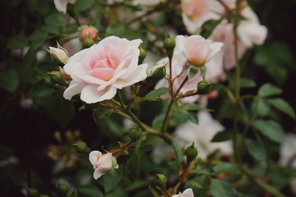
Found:
<svg viewBox="0 0 296 197"><path fill-rule="evenodd" d="M124 167L124 172L128 179L134 184L140 175L140 158L135 151L130 158L127 160Z"/></svg>

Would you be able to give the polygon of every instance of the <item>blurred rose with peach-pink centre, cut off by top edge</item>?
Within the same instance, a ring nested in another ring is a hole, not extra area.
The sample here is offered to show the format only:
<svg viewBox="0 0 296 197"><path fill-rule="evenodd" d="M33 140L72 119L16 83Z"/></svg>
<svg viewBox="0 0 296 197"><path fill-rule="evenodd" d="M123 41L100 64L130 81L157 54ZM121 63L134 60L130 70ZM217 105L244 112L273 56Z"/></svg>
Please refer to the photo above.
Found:
<svg viewBox="0 0 296 197"><path fill-rule="evenodd" d="M224 8L217 0L181 0L182 18L190 34L198 34L210 19L220 19Z"/></svg>

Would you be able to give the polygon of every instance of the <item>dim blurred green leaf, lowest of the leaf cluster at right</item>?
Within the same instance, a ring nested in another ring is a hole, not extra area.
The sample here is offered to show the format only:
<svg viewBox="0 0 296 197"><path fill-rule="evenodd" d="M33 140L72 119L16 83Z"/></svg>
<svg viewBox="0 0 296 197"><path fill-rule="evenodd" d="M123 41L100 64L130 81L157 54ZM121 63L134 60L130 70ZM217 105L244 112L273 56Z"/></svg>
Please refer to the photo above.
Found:
<svg viewBox="0 0 296 197"><path fill-rule="evenodd" d="M252 139L245 139L247 152L257 161L266 161L266 152L264 147L262 147L258 142Z"/></svg>

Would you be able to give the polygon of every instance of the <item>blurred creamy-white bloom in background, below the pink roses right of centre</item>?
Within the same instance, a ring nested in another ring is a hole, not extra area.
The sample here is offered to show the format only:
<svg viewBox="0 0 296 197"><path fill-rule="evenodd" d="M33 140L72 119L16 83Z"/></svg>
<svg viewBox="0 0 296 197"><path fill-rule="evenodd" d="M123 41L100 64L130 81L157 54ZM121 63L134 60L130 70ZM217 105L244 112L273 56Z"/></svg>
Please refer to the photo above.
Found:
<svg viewBox="0 0 296 197"><path fill-rule="evenodd" d="M188 121L176 128L176 139L186 146L190 146L194 141L194 146L197 147L197 157L206 159L210 153L219 149L221 154L232 154L233 148L231 141L211 142L213 137L224 130L224 127L215 119L212 118L209 112L199 111L199 124L194 124Z"/></svg>

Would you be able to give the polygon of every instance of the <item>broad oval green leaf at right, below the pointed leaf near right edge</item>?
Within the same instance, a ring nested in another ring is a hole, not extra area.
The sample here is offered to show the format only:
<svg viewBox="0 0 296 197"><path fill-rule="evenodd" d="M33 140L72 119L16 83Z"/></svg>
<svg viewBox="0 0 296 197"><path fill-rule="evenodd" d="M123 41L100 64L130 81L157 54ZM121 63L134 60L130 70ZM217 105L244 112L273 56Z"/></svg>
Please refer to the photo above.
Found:
<svg viewBox="0 0 296 197"><path fill-rule="evenodd" d="M264 136L274 142L284 141L285 133L281 128L281 125L273 120L255 120L251 123L251 126L258 129Z"/></svg>

